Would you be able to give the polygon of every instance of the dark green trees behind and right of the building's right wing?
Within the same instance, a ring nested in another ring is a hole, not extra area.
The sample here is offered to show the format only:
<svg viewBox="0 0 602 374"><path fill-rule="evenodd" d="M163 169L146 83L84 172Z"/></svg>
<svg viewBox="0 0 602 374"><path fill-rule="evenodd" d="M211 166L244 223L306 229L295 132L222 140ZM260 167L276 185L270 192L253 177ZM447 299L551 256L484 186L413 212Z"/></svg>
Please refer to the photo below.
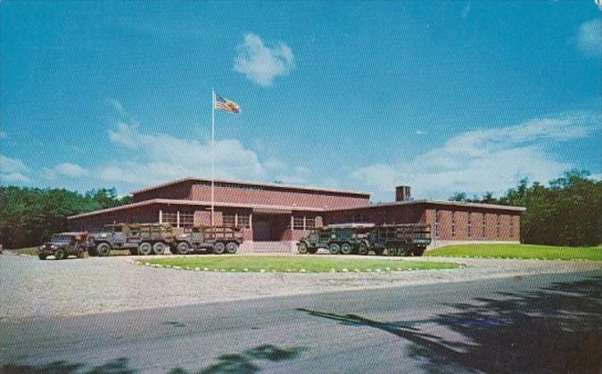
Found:
<svg viewBox="0 0 602 374"><path fill-rule="evenodd" d="M527 178L499 198L491 192L450 200L526 207L521 216L521 241L557 246L597 246L602 243L602 182L584 170L565 172L543 185Z"/></svg>

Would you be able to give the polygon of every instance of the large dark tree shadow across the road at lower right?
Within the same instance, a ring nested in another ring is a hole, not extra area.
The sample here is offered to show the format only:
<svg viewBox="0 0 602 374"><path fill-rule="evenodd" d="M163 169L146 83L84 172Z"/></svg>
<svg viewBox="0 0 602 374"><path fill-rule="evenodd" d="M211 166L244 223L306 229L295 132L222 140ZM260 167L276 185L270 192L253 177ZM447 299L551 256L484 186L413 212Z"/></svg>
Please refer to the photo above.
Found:
<svg viewBox="0 0 602 374"><path fill-rule="evenodd" d="M494 298L476 297L470 303L442 306L451 306L455 311L426 316L424 320L394 322L355 314L298 310L403 338L409 342L408 356L431 372L600 370L602 277L557 282L548 288L498 293ZM457 336L451 340L427 333L441 328Z"/></svg>

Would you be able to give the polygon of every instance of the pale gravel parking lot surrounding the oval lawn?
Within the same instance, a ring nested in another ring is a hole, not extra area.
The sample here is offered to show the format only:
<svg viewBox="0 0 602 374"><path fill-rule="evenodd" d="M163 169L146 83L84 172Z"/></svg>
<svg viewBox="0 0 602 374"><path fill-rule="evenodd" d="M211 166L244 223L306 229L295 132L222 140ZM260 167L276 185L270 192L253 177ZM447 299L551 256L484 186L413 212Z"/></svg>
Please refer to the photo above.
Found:
<svg viewBox="0 0 602 374"><path fill-rule="evenodd" d="M152 268L136 264L141 258L111 256L40 261L37 256L5 253L0 256L0 321L404 284L496 277L521 280L522 276L532 273L600 269L599 263L582 261L407 257L404 261L451 261L467 267L369 273L230 273Z"/></svg>

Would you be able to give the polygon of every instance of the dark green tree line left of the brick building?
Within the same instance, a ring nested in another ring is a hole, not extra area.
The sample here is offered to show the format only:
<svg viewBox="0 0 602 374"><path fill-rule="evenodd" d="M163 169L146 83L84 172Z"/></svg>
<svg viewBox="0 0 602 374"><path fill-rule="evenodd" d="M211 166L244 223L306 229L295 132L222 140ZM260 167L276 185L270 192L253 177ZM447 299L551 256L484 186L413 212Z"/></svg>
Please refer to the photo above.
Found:
<svg viewBox="0 0 602 374"><path fill-rule="evenodd" d="M0 187L0 243L4 248L34 247L54 232L69 231L70 215L131 202L114 188L84 194L63 189Z"/></svg>

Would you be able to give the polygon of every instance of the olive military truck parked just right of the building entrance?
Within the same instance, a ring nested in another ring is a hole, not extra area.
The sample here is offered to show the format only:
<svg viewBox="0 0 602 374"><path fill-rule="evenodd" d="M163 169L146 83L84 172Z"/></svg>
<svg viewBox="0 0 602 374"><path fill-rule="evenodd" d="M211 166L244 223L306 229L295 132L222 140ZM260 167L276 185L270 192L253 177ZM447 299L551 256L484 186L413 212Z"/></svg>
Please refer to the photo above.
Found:
<svg viewBox="0 0 602 374"><path fill-rule="evenodd" d="M309 232L297 243L301 255L315 254L319 248L326 248L331 255L350 255L367 248L365 225L333 224ZM366 250L367 253L367 250Z"/></svg>

